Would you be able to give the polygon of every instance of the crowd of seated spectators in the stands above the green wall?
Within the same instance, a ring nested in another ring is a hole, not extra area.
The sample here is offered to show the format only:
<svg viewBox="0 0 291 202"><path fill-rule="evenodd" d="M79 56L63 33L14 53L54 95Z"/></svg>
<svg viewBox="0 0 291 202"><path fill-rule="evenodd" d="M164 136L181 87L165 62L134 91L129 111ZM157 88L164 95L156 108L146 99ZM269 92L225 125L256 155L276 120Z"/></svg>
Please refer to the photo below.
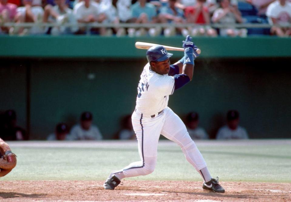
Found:
<svg viewBox="0 0 291 202"><path fill-rule="evenodd" d="M0 0L0 33L100 34L103 36L289 36L291 2L288 0ZM33 23L7 26L5 23ZM54 23L46 26L43 23ZM80 25L78 23L83 23ZM112 24L92 27L87 23ZM120 27L119 23L152 24ZM162 24L160 24L162 23ZM224 25L218 28L214 23ZM242 28L235 23L269 23L272 28ZM169 26L164 26L164 25ZM181 26L185 24L185 26ZM67 26L69 25L69 26ZM162 25L162 26L161 26ZM173 26L179 25L179 26ZM187 25L187 26L186 26Z"/></svg>

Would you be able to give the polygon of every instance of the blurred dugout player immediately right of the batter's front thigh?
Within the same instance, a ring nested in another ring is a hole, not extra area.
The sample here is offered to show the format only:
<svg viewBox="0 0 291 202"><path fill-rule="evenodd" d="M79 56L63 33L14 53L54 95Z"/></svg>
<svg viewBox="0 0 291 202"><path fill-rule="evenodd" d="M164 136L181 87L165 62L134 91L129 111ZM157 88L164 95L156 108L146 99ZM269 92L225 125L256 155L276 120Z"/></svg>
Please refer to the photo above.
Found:
<svg viewBox="0 0 291 202"><path fill-rule="evenodd" d="M187 131L190 137L194 139L208 139L209 136L206 131L198 127L199 124L199 115L197 112L191 112L187 116Z"/></svg>

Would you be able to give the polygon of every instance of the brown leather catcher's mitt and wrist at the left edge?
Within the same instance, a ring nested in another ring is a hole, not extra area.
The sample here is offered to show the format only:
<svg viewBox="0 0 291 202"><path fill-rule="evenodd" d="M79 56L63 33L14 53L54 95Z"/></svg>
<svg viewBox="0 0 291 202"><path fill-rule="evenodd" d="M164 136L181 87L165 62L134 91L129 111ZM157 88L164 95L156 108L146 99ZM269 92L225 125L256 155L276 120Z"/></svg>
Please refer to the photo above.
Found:
<svg viewBox="0 0 291 202"><path fill-rule="evenodd" d="M0 177L7 175L16 165L16 155L9 145L0 138Z"/></svg>

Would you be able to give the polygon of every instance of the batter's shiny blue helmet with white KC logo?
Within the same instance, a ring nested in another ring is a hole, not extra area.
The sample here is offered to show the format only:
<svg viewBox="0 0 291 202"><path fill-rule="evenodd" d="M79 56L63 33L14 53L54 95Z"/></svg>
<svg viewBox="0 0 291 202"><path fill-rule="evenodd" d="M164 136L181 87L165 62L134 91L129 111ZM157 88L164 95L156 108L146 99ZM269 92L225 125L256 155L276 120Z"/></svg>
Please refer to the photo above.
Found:
<svg viewBox="0 0 291 202"><path fill-rule="evenodd" d="M170 58L173 54L168 53L163 46L152 46L147 50L147 61L164 61Z"/></svg>

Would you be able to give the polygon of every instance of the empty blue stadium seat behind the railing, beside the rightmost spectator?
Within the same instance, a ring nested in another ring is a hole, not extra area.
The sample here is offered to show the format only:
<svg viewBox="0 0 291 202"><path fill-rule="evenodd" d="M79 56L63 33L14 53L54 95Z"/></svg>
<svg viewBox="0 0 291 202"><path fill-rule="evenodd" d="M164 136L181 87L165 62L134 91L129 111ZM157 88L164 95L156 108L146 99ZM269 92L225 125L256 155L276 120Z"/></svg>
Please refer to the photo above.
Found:
<svg viewBox="0 0 291 202"><path fill-rule="evenodd" d="M268 24L268 21L259 16L244 16L246 19L245 23L254 23L254 24ZM269 35L269 28L248 28L248 35Z"/></svg>

